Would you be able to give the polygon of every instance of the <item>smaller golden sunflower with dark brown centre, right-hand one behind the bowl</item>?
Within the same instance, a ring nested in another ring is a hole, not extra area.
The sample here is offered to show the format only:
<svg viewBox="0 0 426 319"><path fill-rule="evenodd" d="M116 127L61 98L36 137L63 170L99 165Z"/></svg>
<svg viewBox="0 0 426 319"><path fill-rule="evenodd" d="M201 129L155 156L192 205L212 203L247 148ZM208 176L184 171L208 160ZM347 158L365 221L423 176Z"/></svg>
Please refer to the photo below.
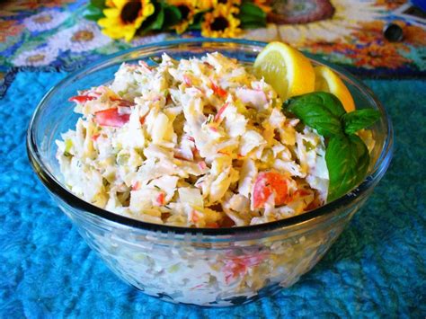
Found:
<svg viewBox="0 0 426 319"><path fill-rule="evenodd" d="M241 32L238 28L240 21L234 14L239 9L230 4L217 4L214 10L204 15L201 23L201 34L212 38L233 38Z"/></svg>

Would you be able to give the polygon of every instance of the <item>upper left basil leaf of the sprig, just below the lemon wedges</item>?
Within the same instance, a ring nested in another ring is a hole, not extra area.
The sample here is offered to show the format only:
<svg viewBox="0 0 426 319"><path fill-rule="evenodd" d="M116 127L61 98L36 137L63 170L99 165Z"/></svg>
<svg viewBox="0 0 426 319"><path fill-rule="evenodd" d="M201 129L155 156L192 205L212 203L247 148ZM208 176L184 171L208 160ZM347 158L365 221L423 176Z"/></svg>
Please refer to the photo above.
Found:
<svg viewBox="0 0 426 319"><path fill-rule="evenodd" d="M315 92L295 96L284 102L283 110L295 114L324 137L342 134L340 116L345 111L339 99L331 93Z"/></svg>

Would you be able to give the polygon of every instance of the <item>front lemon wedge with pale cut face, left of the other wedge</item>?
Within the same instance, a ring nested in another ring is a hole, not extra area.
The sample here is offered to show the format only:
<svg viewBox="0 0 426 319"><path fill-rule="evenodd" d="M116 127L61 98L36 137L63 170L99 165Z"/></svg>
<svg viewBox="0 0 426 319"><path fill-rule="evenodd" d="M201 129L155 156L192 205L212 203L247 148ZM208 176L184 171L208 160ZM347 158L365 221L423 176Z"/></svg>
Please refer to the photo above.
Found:
<svg viewBox="0 0 426 319"><path fill-rule="evenodd" d="M257 56L253 68L255 75L263 76L282 100L314 91L315 72L311 62L285 43L269 43Z"/></svg>

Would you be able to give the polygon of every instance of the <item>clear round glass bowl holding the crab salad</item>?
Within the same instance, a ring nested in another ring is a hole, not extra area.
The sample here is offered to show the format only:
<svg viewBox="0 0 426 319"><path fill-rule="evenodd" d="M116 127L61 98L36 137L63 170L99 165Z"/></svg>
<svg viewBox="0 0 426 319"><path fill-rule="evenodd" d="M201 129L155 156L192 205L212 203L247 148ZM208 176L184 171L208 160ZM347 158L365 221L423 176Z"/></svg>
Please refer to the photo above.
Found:
<svg viewBox="0 0 426 319"><path fill-rule="evenodd" d="M393 133L385 109L364 84L332 66L358 108L376 109L382 116L372 128L376 146L368 177L351 193L321 208L257 226L187 228L119 216L67 190L55 158L55 140L75 127L79 115L67 100L77 90L110 82L122 62L143 59L153 64L150 58L163 52L179 59L219 51L251 64L265 45L249 40L191 39L123 51L69 75L44 96L33 114L27 149L41 182L111 270L148 295L174 303L232 306L291 286L323 257L386 172ZM329 65L307 57L315 65Z"/></svg>

